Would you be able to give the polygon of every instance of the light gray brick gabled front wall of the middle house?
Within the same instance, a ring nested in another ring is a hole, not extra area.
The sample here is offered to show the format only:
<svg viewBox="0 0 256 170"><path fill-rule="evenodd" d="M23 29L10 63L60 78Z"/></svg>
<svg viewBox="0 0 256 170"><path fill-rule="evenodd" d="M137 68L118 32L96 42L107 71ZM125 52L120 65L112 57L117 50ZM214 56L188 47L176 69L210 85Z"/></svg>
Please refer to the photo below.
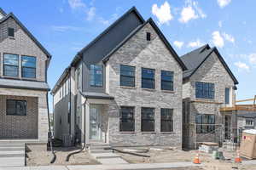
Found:
<svg viewBox="0 0 256 170"><path fill-rule="evenodd" d="M151 41L146 40L146 32L151 33ZM136 66L136 87L119 86L119 65ZM141 88L141 70L155 70L155 89ZM160 71L174 71L174 91L160 90ZM108 60L106 71L106 91L115 99L108 108L108 140L114 146L134 145L182 145L182 82L183 71L170 51L160 40L153 27L147 24L136 35L116 51ZM119 106L135 107L135 132L119 132ZM141 108L154 107L153 133L141 132ZM174 109L173 132L160 132L160 108Z"/></svg>

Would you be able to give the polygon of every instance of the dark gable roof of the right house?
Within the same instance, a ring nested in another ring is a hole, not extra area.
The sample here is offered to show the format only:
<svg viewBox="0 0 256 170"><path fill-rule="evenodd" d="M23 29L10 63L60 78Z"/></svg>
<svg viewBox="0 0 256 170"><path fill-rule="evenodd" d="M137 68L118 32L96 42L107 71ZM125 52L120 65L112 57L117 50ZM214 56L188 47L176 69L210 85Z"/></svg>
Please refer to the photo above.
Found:
<svg viewBox="0 0 256 170"><path fill-rule="evenodd" d="M238 84L236 77L234 76L232 71L230 71L230 68L224 61L223 57L219 54L218 49L215 47L211 48L208 44L202 46L201 48L196 48L188 54L184 54L183 56L181 56L183 63L188 68L187 71L183 71L183 79L191 77L195 73L195 71L197 71L197 69L204 63L204 61L207 60L212 52L215 52L217 54L218 59L224 65L224 68L226 69L226 71L228 71L234 83Z"/></svg>

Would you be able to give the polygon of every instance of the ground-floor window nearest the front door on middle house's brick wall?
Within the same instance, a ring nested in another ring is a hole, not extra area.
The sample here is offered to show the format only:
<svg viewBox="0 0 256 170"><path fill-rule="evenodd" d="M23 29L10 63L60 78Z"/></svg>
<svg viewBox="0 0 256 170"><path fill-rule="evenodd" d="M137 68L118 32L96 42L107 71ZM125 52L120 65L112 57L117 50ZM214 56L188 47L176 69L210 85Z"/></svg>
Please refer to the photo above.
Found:
<svg viewBox="0 0 256 170"><path fill-rule="evenodd" d="M121 132L134 131L134 107L121 106L119 126Z"/></svg>

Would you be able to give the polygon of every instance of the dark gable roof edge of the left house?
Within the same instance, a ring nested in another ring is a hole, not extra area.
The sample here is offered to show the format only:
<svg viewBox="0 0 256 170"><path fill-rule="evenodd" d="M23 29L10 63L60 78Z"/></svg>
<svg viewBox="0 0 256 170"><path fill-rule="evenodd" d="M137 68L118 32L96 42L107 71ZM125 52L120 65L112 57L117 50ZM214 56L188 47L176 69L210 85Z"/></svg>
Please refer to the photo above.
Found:
<svg viewBox="0 0 256 170"><path fill-rule="evenodd" d="M1 9L1 10L3 11L3 9ZM20 20L18 20L18 18L15 16L15 14L10 13L10 14L5 15L5 16L0 20L0 24L1 24L2 22L4 22L5 20L8 20L9 18L13 18L13 19L20 25L20 27L22 28L22 30L26 32L26 34L28 35L28 37L30 37L30 38L32 39L32 41L35 42L35 43L38 45L38 47L44 52L44 54L46 54L49 59L51 58L51 54L49 54L49 52L43 47L43 45L42 45L40 42L38 42L38 40L32 35L32 33L26 29L26 26L24 26L24 25L20 22Z"/></svg>

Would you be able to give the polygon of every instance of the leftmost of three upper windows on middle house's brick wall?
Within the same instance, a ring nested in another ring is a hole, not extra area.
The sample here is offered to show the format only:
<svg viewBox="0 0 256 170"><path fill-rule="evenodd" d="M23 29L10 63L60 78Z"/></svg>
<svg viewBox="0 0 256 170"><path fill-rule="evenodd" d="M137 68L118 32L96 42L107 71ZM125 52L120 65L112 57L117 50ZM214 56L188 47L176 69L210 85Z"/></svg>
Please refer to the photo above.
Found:
<svg viewBox="0 0 256 170"><path fill-rule="evenodd" d="M120 86L135 87L135 67L120 65Z"/></svg>

